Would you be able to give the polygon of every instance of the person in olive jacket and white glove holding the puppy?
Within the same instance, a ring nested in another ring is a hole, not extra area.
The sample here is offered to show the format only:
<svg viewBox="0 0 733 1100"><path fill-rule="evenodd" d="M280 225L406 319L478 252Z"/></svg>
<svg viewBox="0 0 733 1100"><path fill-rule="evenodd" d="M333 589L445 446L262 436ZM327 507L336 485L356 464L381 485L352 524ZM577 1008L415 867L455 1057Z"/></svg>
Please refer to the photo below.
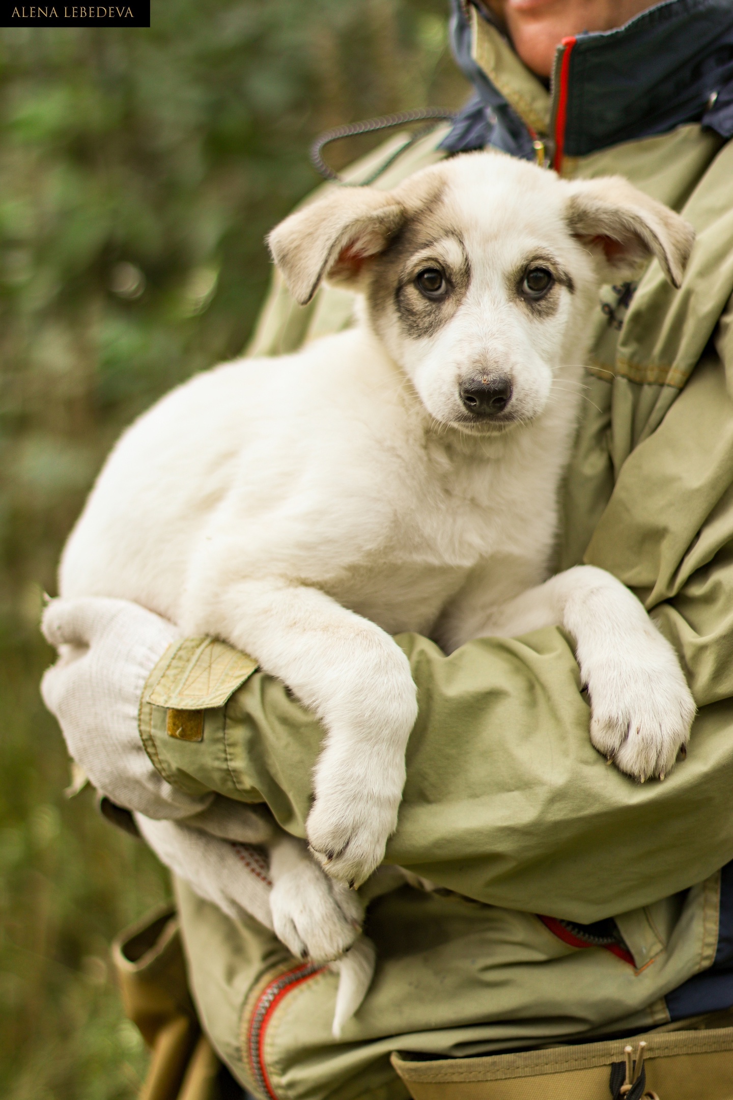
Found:
<svg viewBox="0 0 733 1100"><path fill-rule="evenodd" d="M733 7L455 0L452 40L474 97L376 186L493 146L568 178L625 176L697 230L679 290L652 264L601 294L556 568L601 566L642 598L698 716L687 759L636 785L590 746L559 629L449 657L399 637L420 715L387 862L414 884L370 902L377 971L336 1041L336 975L277 942L266 868L232 843L243 804L304 835L318 723L221 642L120 601L53 603L46 703L178 872L203 1027L260 1097L391 1100L407 1094L395 1050L465 1058L733 1005ZM276 275L249 352L295 350L352 306L326 288L297 307Z"/></svg>

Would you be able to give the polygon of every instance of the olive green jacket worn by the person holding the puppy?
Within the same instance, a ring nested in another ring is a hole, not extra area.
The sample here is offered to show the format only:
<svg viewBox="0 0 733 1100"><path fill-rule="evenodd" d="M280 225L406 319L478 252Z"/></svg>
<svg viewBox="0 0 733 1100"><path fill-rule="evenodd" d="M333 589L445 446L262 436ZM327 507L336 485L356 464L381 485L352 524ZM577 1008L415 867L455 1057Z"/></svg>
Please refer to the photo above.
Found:
<svg viewBox="0 0 733 1100"><path fill-rule="evenodd" d="M488 24L476 28L475 52L542 135L540 81ZM442 136L423 139L376 186L434 162ZM713 961L718 871L733 859L733 143L690 124L563 164L565 176L609 173L681 210L698 240L679 290L654 262L630 304L625 288L601 294L557 568L602 566L654 610L699 707L687 759L644 785L606 766L559 629L449 657L400 636L420 716L387 860L445 893L406 888L374 903L377 978L345 1045L330 1038L335 976L298 986L278 1010L289 1023L268 1041L273 1094L402 1096L387 1062L396 1047L466 1053L664 1024L665 994ZM276 275L249 353L292 351L351 323L352 307L322 288L301 308ZM201 716L168 723L168 708ZM174 785L265 801L304 835L322 730L248 658L207 639L171 647L148 680L141 736ZM265 930L234 928L185 888L181 912L209 1033L267 1094L242 1028L268 967L295 964ZM615 916L631 961L562 943L538 913Z"/></svg>

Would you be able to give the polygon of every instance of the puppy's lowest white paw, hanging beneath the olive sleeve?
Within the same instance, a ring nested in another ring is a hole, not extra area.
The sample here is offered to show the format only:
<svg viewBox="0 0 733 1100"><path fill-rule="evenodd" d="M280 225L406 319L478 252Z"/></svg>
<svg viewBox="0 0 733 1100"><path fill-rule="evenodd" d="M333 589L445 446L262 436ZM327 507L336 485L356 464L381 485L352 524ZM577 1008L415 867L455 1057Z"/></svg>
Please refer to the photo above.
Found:
<svg viewBox="0 0 733 1100"><path fill-rule="evenodd" d="M269 903L275 935L296 957L337 959L362 931L364 904L358 894L333 882L312 860L282 875Z"/></svg>

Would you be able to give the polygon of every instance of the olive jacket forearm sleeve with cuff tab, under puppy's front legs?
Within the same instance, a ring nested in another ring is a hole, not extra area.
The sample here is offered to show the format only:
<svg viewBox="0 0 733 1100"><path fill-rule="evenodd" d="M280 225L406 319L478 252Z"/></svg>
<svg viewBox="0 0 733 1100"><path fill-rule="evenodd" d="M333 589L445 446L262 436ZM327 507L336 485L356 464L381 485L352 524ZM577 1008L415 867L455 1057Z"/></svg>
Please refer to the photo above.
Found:
<svg viewBox="0 0 733 1100"><path fill-rule="evenodd" d="M591 747L559 630L449 657L417 635L397 641L420 716L388 861L478 901L590 922L671 895L733 856L731 704L702 708L687 760L640 785ZM226 682L211 675L212 647L230 663ZM196 719L180 722L181 707ZM174 785L266 801L304 835L322 729L242 654L206 639L171 647L148 680L141 733Z"/></svg>

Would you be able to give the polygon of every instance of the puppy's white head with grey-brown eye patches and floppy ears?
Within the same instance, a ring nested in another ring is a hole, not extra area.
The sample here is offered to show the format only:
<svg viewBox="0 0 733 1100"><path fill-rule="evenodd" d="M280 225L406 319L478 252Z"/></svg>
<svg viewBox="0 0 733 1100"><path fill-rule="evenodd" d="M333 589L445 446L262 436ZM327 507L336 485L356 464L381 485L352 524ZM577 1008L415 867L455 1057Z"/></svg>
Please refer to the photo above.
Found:
<svg viewBox="0 0 733 1100"><path fill-rule="evenodd" d="M392 191L333 190L269 237L298 301L324 278L364 294L429 413L470 433L538 416L558 370L585 358L600 285L655 257L679 286L692 242L621 177L568 183L497 153Z"/></svg>

